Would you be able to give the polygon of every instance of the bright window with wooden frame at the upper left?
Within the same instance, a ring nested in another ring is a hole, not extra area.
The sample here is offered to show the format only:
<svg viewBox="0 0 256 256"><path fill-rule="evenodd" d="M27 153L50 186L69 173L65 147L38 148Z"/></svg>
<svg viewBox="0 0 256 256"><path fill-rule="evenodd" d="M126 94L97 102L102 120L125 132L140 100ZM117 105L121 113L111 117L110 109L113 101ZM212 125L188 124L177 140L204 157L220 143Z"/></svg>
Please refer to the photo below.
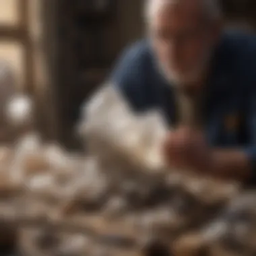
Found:
<svg viewBox="0 0 256 256"><path fill-rule="evenodd" d="M29 32L29 0L0 0L0 61L6 62L15 86L32 86L32 54Z"/></svg>

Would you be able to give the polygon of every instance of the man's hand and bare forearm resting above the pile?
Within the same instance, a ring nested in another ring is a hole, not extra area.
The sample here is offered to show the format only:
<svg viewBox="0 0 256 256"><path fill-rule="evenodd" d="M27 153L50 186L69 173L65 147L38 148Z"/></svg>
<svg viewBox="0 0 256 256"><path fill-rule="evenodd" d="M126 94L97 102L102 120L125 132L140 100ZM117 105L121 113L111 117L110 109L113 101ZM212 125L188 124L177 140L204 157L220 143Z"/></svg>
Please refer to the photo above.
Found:
<svg viewBox="0 0 256 256"><path fill-rule="evenodd" d="M171 167L205 172L220 179L247 181L252 171L243 150L210 148L201 131L187 127L168 134L163 154Z"/></svg>

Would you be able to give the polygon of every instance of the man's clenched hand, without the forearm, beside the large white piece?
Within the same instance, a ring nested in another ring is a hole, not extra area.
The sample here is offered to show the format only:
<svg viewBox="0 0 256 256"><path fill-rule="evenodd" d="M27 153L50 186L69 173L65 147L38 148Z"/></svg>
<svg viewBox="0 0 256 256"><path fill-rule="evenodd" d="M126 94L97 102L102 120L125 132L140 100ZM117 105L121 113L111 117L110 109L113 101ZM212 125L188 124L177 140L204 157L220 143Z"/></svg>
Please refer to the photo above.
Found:
<svg viewBox="0 0 256 256"><path fill-rule="evenodd" d="M203 134L187 127L168 134L163 152L168 164L177 168L205 171L212 164L212 150Z"/></svg>

